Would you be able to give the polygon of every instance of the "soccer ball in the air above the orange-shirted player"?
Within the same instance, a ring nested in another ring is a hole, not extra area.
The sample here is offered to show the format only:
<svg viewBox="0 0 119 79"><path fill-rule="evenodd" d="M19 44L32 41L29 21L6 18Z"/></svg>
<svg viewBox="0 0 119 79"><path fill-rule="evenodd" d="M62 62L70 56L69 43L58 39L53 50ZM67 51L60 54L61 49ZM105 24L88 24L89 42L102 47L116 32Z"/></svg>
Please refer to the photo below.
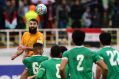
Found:
<svg viewBox="0 0 119 79"><path fill-rule="evenodd" d="M39 15L46 14L46 13L47 13L47 7L46 7L44 4L38 4L38 5L36 6L36 12L37 12Z"/></svg>

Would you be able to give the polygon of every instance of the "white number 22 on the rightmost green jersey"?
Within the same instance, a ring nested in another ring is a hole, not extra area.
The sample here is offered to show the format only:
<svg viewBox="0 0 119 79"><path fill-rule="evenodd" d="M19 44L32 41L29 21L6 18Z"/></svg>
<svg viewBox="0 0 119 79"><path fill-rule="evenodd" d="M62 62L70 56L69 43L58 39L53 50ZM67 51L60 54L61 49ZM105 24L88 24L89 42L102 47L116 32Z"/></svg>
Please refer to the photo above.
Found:
<svg viewBox="0 0 119 79"><path fill-rule="evenodd" d="M119 52L117 50L114 51L106 51L107 55L110 56L110 64L112 66L119 65ZM117 58L115 59L115 57Z"/></svg>

